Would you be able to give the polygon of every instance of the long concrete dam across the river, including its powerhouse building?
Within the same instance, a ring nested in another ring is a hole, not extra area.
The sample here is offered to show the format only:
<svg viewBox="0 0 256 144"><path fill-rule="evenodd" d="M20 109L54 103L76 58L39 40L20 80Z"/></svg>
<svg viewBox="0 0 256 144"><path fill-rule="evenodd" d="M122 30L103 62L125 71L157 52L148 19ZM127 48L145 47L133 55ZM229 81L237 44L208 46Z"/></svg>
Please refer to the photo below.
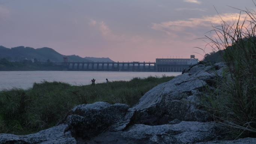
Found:
<svg viewBox="0 0 256 144"><path fill-rule="evenodd" d="M157 58L155 62L53 62L61 65L66 71L144 71L144 72L182 72L190 65L196 64L198 59L191 58Z"/></svg>

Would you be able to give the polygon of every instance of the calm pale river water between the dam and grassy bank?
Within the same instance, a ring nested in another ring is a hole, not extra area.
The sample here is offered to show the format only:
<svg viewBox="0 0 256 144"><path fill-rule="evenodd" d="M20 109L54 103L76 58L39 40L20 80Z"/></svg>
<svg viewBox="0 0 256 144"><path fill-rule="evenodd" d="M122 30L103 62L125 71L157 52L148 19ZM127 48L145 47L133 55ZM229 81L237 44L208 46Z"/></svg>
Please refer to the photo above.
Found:
<svg viewBox="0 0 256 144"><path fill-rule="evenodd" d="M105 71L0 71L0 90L11 88L27 89L33 83L43 81L58 81L70 83L71 85L88 85L91 79L96 79L95 83L118 80L131 80L134 77L148 76L177 76L181 72L105 72Z"/></svg>

